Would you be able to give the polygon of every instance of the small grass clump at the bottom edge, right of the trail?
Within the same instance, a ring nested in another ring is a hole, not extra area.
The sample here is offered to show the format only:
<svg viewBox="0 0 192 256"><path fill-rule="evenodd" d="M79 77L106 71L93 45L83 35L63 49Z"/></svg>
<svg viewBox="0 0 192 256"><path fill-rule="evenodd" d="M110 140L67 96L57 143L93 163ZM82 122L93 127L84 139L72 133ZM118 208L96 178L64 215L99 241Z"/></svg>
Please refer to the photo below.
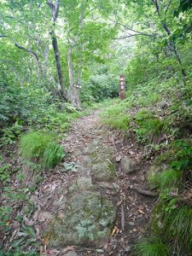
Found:
<svg viewBox="0 0 192 256"><path fill-rule="evenodd" d="M145 241L138 243L135 249L138 256L169 256L170 251L160 239L148 238Z"/></svg>

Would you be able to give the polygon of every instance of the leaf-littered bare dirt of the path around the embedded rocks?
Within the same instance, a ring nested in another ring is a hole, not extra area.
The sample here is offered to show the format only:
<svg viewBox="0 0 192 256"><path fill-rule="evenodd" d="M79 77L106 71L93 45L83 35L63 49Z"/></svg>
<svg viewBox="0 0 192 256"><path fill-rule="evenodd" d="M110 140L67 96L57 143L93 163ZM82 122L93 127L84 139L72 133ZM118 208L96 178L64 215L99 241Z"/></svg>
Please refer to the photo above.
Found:
<svg viewBox="0 0 192 256"><path fill-rule="evenodd" d="M102 193L113 201L113 205L117 211L117 220L113 224L111 236L100 249L98 247L64 247L55 250L48 246L48 255L76 255L75 252L77 255L131 255L133 245L145 232L154 198L139 195L131 188L136 185L142 188L145 187L144 173L147 166L140 163L138 164L139 168L137 168L137 171L131 172L130 174L125 174L122 171L119 162L120 159L131 157L138 161L141 155L133 144L130 145L130 142L123 142L121 135L102 128L98 111L91 113L89 116L82 117L73 123L72 128L67 133L66 139L62 142L67 151L65 163L73 163L74 165L80 166L81 160L84 157L84 148L87 148L94 141L101 141L103 146L113 147L113 158L116 162L117 178L115 183L118 184L118 187L114 190L111 189L110 185L104 184L104 187L101 187L101 183L97 183L97 189L100 191L102 189ZM64 184L67 186L77 177L81 177L82 175L90 177L89 169L83 174L82 170L79 171L79 167L77 167L77 172L63 173L62 169L63 166L57 167L55 174L50 175L41 187L40 190L44 191L46 198L51 197L50 195L53 198L53 194L50 194L49 190L53 191L53 188L59 188L61 183L61 187L64 188ZM57 191L57 195L61 195L61 193ZM54 200L57 200L56 195L54 196ZM47 206L47 209L50 205L53 205L53 203L45 199L44 204ZM69 244L68 246L71 245ZM67 250L71 251L71 254L65 254L68 252Z"/></svg>

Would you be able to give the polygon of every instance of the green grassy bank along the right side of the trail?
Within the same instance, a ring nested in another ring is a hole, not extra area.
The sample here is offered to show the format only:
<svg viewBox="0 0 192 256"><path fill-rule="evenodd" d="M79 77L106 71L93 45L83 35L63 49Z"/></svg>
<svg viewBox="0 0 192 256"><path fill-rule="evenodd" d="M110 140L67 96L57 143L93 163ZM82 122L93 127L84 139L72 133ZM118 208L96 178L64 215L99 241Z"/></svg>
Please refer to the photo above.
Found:
<svg viewBox="0 0 192 256"><path fill-rule="evenodd" d="M113 101L101 120L137 144L157 172L148 186L159 192L148 227L135 247L139 256L183 256L192 252L192 94L190 83L154 79ZM124 120L127 120L125 123ZM148 150L146 150L148 148ZM158 167L159 166L159 167ZM165 166L162 168L162 166ZM162 171L160 171L162 170ZM155 170L154 170L155 171Z"/></svg>

